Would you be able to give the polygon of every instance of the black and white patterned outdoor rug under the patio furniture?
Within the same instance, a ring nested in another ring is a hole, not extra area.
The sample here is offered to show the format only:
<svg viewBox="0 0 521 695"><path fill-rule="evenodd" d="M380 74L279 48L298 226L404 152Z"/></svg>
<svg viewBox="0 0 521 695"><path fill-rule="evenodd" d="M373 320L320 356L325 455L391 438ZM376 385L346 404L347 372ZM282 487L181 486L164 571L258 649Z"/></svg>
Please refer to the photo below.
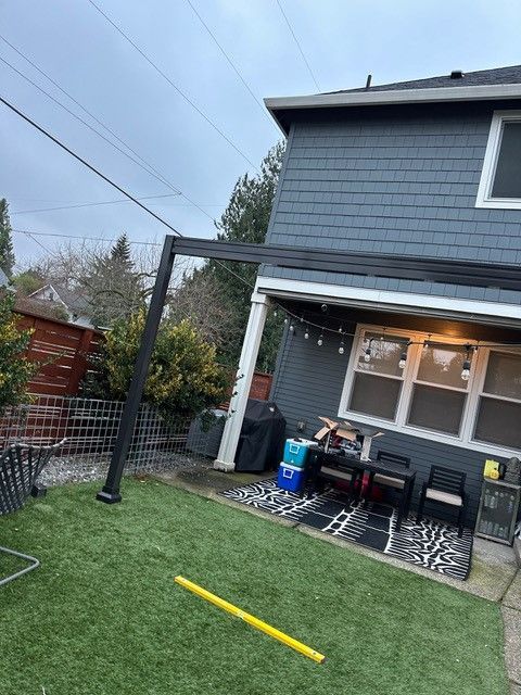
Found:
<svg viewBox="0 0 521 695"><path fill-rule="evenodd" d="M425 518L416 523L409 517L397 531L396 509L391 505L370 502L365 508L360 503L350 503L345 493L332 488L301 500L297 494L278 488L275 478L220 494L442 574L465 580L470 571L469 529L458 539L458 530L453 526Z"/></svg>

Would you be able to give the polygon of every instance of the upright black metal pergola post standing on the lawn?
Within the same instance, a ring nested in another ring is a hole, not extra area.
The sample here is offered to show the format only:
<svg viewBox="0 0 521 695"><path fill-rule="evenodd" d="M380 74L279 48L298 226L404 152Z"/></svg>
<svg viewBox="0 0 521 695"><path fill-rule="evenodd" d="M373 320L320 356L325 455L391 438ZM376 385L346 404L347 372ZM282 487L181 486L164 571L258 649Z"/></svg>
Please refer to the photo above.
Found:
<svg viewBox="0 0 521 695"><path fill-rule="evenodd" d="M144 381L149 371L150 358L154 348L155 337L160 327L161 315L165 304L168 282L170 281L171 267L174 265L175 240L171 235L165 238L163 252L161 254L157 277L155 278L154 291L150 302L147 321L141 338L141 344L136 361L132 380L128 390L127 401L123 408L122 420L117 432L114 451L111 457L111 465L106 475L105 484L96 495L100 502L114 504L122 501L119 493L119 483L122 480L123 469L127 460L128 450L132 441L134 428L138 416L139 405L143 393Z"/></svg>

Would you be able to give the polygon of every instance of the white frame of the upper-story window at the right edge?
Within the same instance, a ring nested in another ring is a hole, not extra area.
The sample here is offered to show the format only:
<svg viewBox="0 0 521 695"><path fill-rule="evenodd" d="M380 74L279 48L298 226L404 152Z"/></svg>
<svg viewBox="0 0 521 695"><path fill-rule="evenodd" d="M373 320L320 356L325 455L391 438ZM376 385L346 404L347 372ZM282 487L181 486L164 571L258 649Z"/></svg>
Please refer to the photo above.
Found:
<svg viewBox="0 0 521 695"><path fill-rule="evenodd" d="M481 172L475 207L499 207L503 210L521 210L521 198L492 198L492 187L496 175L497 157L503 138L503 125L506 122L521 121L521 111L495 111L492 116L491 130L486 143L485 159Z"/></svg>

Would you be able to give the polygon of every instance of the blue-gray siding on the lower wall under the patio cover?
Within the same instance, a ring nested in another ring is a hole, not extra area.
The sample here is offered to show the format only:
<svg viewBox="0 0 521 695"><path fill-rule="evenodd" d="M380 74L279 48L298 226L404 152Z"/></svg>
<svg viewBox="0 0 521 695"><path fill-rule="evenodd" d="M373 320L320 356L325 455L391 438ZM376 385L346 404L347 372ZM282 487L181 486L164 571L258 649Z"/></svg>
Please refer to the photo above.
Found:
<svg viewBox="0 0 521 695"><path fill-rule="evenodd" d="M344 326L344 329L348 330L351 327ZM303 333L304 330L297 327L295 336L288 331L284 336L271 399L287 419L287 435L312 439L321 427L319 415L333 419L338 416L352 339L344 339L345 353L340 355L340 338L336 336L326 333L323 345L319 348L317 329L312 330L309 340L304 340ZM297 430L298 421L305 422L304 432ZM352 418L350 421L355 422ZM373 441L371 456L376 456L379 448L382 448L410 457L411 466L417 470L414 506L431 466L447 466L467 473L468 523L473 525L481 494L483 467L490 456L471 448L450 446L404 432L385 430L384 427L381 429L385 432L384 437ZM505 460L497 456L493 458ZM450 518L450 511L447 515L443 507L425 508L425 513Z"/></svg>

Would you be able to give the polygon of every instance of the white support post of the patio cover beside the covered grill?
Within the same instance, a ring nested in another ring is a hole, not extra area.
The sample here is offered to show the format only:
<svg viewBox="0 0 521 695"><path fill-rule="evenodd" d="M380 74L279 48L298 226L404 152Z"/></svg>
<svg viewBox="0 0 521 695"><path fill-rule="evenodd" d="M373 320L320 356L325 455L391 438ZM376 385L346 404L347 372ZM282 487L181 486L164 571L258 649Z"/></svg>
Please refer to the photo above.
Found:
<svg viewBox="0 0 521 695"><path fill-rule="evenodd" d="M233 395L230 399L228 419L226 420L219 453L214 468L231 472L236 468L236 453L241 434L242 420L246 410L247 397L252 386L253 372L257 362L258 348L263 338L264 325L268 313L268 298L264 294L252 294L252 307L247 319L246 333L242 343L239 369Z"/></svg>

